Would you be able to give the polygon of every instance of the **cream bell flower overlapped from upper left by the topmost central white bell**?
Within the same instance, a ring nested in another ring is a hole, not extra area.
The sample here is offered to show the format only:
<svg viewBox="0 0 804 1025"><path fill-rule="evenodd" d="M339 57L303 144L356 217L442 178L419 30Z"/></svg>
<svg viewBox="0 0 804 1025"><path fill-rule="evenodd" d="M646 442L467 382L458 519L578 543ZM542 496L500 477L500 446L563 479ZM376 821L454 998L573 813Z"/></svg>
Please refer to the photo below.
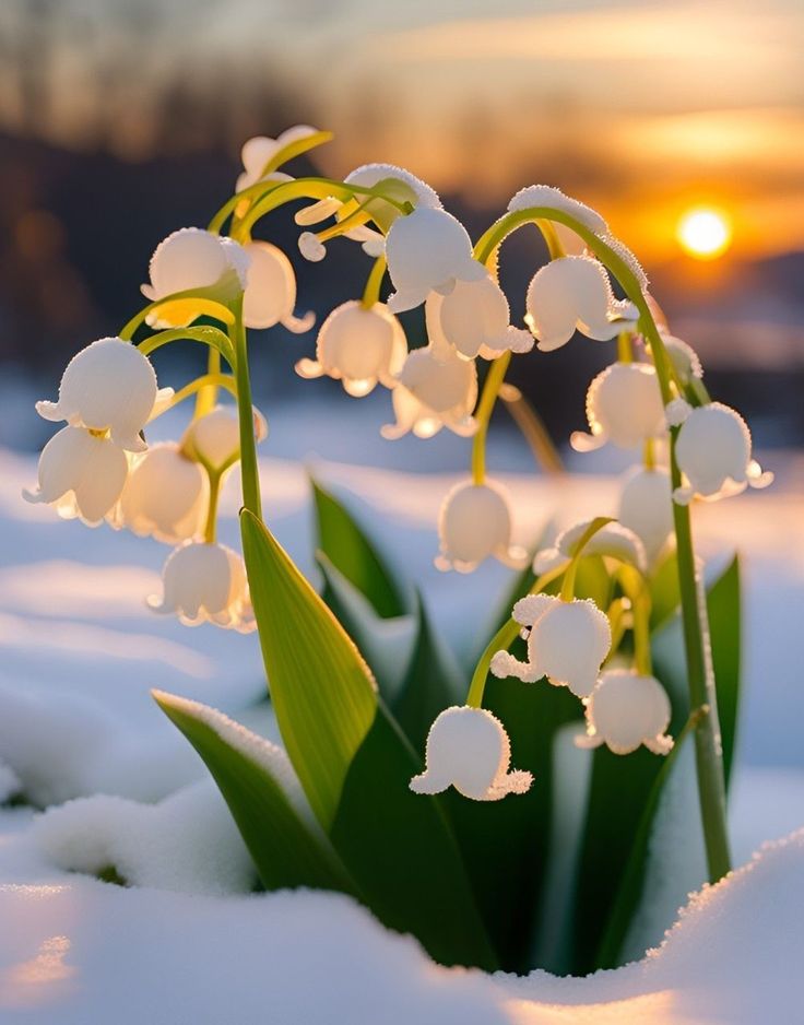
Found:
<svg viewBox="0 0 804 1025"><path fill-rule="evenodd" d="M427 335L439 353L452 346L466 360L494 360L507 350L530 352L533 335L511 327L508 299L486 274L478 281L458 281L449 295L430 292L425 303Z"/></svg>

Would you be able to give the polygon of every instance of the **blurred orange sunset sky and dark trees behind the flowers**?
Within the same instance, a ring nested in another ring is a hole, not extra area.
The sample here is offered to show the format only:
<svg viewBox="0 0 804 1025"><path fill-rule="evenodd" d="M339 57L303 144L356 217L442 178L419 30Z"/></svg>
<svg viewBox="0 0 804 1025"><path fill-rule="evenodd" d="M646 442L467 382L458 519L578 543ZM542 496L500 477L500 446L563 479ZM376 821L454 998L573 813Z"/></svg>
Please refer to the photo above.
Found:
<svg viewBox="0 0 804 1025"><path fill-rule="evenodd" d="M243 141L306 122L335 132L315 155L321 172L400 164L473 235L532 182L600 209L673 332L700 352L710 390L797 474L802 39L801 0L3 0L0 444L49 436L32 398L51 397L69 356L139 308L154 246L230 195ZM369 264L358 247L334 244L299 268L291 213L264 232L300 272L298 310L326 315L359 294ZM504 250L517 315L540 259L535 233ZM419 321L406 326L415 342ZM387 393L355 402L333 382L297 380L314 342L275 329L253 345L282 455L456 466L458 439L375 440ZM166 356L163 382L196 356ZM612 357L576 340L515 361L513 378L565 438ZM324 438L312 414L335 401L339 431ZM517 446L498 443L503 463L521 462Z"/></svg>

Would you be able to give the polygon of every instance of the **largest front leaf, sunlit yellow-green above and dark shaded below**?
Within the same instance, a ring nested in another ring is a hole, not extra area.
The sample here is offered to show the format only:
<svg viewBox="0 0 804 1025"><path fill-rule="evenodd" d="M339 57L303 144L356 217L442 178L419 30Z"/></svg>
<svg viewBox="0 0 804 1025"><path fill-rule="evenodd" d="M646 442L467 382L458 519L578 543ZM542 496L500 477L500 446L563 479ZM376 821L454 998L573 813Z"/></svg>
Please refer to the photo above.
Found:
<svg viewBox="0 0 804 1025"><path fill-rule="evenodd" d="M362 898L444 964L495 967L454 835L330 609L268 529L241 514L276 719L291 761Z"/></svg>

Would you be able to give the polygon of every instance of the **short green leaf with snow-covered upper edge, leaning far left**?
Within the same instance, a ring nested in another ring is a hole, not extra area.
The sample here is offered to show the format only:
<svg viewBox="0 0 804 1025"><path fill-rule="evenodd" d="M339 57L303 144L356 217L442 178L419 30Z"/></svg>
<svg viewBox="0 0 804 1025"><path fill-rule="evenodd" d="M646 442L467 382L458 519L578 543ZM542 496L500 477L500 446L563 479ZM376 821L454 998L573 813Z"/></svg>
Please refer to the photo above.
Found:
<svg viewBox="0 0 804 1025"><path fill-rule="evenodd" d="M212 774L265 889L354 893L329 841L294 808L280 781L289 768L283 752L213 708L161 691L153 695Z"/></svg>

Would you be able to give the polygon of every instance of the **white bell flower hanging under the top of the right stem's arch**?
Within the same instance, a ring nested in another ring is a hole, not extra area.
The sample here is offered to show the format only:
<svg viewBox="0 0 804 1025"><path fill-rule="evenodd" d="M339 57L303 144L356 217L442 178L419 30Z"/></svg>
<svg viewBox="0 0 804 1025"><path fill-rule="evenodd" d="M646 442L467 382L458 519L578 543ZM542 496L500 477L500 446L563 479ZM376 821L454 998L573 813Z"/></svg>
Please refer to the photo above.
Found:
<svg viewBox="0 0 804 1025"><path fill-rule="evenodd" d="M525 322L539 349L560 349L576 330L596 341L634 330L632 303L615 299L605 268L587 256L560 257L540 268L528 286Z"/></svg>

